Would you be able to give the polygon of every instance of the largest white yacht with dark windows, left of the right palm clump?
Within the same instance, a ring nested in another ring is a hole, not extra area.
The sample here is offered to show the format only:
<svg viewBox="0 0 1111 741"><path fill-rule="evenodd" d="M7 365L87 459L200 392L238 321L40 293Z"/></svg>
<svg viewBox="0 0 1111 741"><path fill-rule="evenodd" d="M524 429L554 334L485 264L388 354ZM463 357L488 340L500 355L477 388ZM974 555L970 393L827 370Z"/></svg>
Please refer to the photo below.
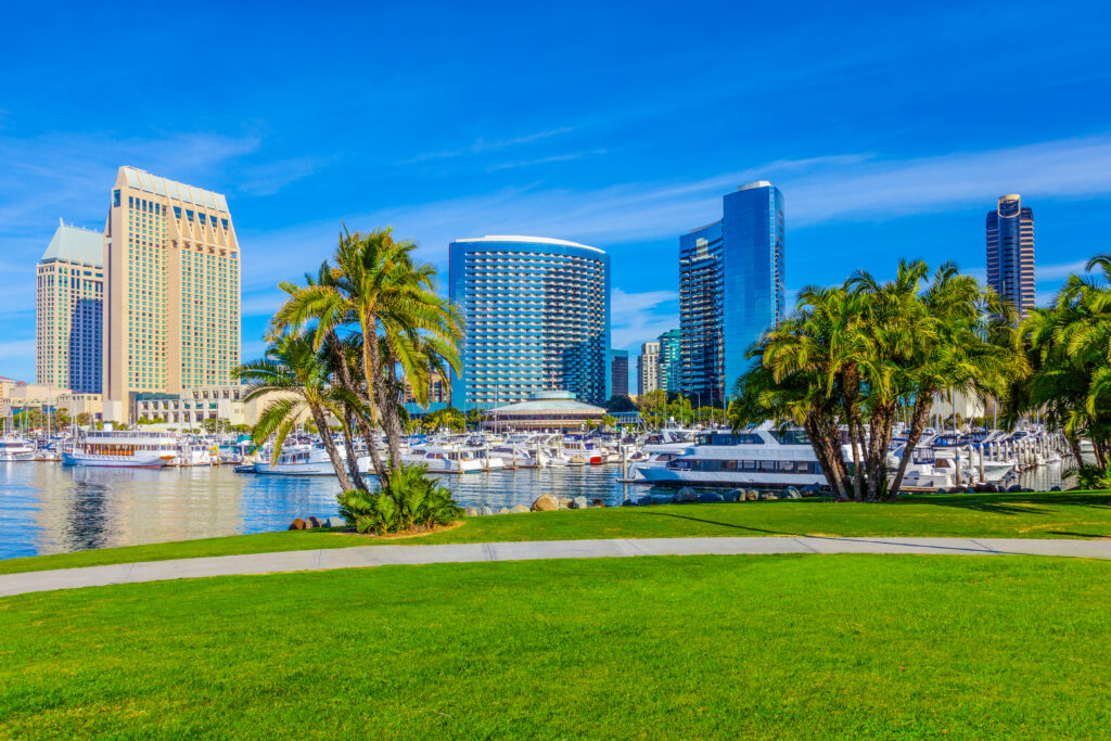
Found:
<svg viewBox="0 0 1111 741"><path fill-rule="evenodd" d="M701 432L693 447L663 465L642 468L640 473L647 482L674 485L825 485L805 432L777 430L770 422L738 433Z"/></svg>

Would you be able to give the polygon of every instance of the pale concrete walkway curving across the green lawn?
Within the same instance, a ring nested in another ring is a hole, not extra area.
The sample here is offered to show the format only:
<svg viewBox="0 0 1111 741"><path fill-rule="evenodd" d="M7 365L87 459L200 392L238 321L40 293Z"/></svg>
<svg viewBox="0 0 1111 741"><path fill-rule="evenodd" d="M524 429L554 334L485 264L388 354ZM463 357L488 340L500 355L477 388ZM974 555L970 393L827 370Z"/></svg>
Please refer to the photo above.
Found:
<svg viewBox="0 0 1111 741"><path fill-rule="evenodd" d="M627 555L767 553L920 553L949 555L1071 555L1111 559L1111 540L1023 540L1003 538L644 538L633 540L541 540L448 545L362 545L317 551L281 551L176 561L60 569L0 575L0 597L56 589L130 584L168 579L361 569L366 567L598 559Z"/></svg>

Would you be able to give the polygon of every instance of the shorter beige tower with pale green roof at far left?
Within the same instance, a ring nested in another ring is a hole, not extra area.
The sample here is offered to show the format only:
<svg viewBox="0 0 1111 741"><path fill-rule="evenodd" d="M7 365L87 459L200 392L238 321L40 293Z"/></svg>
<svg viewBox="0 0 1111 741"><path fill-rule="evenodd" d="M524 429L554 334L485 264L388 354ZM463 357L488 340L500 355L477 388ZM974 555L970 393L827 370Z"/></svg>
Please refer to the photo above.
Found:
<svg viewBox="0 0 1111 741"><path fill-rule="evenodd" d="M59 222L36 270L36 382L100 393L104 236Z"/></svg>

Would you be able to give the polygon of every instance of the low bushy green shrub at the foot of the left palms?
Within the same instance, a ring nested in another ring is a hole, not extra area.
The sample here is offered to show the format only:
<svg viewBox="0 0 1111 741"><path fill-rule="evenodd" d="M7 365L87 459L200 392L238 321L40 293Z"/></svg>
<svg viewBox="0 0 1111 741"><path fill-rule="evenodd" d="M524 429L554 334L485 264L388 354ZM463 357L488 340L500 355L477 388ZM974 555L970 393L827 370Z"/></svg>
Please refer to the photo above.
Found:
<svg viewBox="0 0 1111 741"><path fill-rule="evenodd" d="M389 483L373 492L344 491L339 495L340 517L359 532L402 532L451 524L462 509L451 490L427 479L427 465L407 465L390 473Z"/></svg>

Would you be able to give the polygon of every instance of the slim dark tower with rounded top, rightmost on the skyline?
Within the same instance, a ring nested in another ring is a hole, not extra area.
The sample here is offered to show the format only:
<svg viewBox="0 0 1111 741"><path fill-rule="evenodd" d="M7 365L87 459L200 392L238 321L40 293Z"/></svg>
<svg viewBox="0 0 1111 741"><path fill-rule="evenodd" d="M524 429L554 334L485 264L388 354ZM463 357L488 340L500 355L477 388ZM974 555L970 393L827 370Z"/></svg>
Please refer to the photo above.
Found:
<svg viewBox="0 0 1111 741"><path fill-rule="evenodd" d="M1018 193L988 212L988 284L1020 318L1034 306L1034 212Z"/></svg>

